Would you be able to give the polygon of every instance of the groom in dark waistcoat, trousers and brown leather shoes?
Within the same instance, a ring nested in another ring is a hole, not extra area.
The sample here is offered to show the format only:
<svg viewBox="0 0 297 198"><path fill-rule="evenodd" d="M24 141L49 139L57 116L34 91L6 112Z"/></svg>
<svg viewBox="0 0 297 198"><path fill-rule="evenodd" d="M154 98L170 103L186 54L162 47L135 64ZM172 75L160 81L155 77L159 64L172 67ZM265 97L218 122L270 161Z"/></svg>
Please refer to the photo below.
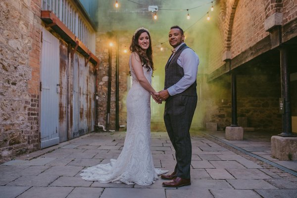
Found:
<svg viewBox="0 0 297 198"><path fill-rule="evenodd" d="M191 185L192 145L189 130L197 104L199 58L184 40L182 28L170 28L169 43L174 49L165 66L165 88L156 95L159 101L166 100L164 122L177 161L173 173L161 175L162 179L170 180L162 183L164 187Z"/></svg>

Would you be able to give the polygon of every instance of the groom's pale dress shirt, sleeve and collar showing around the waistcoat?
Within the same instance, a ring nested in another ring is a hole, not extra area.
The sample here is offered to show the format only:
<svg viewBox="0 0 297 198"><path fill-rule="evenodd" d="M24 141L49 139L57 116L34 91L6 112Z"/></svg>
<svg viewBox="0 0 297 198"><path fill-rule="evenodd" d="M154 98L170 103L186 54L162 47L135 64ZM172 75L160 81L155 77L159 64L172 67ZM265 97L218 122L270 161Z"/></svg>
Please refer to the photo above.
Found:
<svg viewBox="0 0 297 198"><path fill-rule="evenodd" d="M183 44L184 43L176 47L175 51ZM172 54L172 56L173 55L174 54ZM199 64L198 55L193 49L184 49L177 59L177 64L184 69L184 76L176 84L167 89L170 96L182 93L196 81Z"/></svg>

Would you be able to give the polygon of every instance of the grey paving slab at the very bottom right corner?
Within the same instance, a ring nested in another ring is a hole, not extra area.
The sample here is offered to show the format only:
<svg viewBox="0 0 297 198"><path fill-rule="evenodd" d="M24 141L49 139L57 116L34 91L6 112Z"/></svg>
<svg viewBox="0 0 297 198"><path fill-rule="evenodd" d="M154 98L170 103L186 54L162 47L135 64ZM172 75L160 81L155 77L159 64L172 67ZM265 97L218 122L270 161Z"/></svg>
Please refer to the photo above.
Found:
<svg viewBox="0 0 297 198"><path fill-rule="evenodd" d="M297 190L255 190L263 198L297 198Z"/></svg>

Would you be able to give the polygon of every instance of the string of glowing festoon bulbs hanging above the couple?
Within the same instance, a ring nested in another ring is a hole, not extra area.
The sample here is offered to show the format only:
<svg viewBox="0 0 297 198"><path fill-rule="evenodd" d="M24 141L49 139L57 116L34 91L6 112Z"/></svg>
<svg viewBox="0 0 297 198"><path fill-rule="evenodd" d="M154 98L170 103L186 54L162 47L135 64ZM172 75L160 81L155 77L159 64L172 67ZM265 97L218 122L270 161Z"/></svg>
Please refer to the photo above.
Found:
<svg viewBox="0 0 297 198"><path fill-rule="evenodd" d="M139 2L136 2L136 1L133 1L133 0L127 0L127 1L130 1L130 2L133 2L133 3L139 4L139 5L143 5L144 7L147 7L147 5L142 4L142 3L139 3ZM166 10L166 11L186 11L186 13L187 13L186 17L187 17L188 20L190 20L191 16L190 16L189 10L196 9L196 8L198 8L198 7L202 7L202 6L206 5L206 4L210 4L210 3L211 3L211 7L210 7L210 9L209 9L203 16L201 16L196 22L194 22L190 27L188 27L187 29L185 29L184 32L186 32L187 30L189 30L191 27L193 27L196 23L198 23L198 21L200 21L200 20L201 20L202 18L204 18L205 16L206 16L206 20L207 20L207 21L210 21L210 15L209 15L209 13L212 12L212 11L214 10L214 7L213 7L213 2L214 2L214 1L215 1L215 0L212 0L212 1L210 1L210 2L205 2L205 3L201 4L201 5L196 6L196 7L187 8L187 9L166 9L166 8L155 8L155 7L153 7L153 6L151 6L150 8L151 8L151 10L152 10L151 12L153 13L152 16L153 16L153 19L154 19L154 20L157 20L157 19L158 19L157 12L158 12L159 10ZM114 4L114 6L115 6L115 8L119 8L119 0L115 0L115 4ZM161 46L161 47L160 47L160 50L163 51L164 48L162 47L162 45L163 45L163 43L165 43L165 42L167 42L167 40L164 41L164 42L162 42L162 43L159 43L159 44L157 44L157 45L154 45L154 47L155 47L155 46ZM127 52L128 52L128 50L126 49L126 46L125 46L125 49L123 50L123 52L124 52L124 53L127 53Z"/></svg>

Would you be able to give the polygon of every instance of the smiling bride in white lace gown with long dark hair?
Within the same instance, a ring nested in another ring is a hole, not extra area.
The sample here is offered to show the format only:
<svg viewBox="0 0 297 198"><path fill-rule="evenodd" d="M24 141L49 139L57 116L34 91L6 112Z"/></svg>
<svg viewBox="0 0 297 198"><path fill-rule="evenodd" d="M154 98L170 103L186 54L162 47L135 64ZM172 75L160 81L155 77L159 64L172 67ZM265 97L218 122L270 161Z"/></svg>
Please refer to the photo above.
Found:
<svg viewBox="0 0 297 198"><path fill-rule="evenodd" d="M168 171L154 168L150 151L151 39L147 29L135 31L129 59L132 87L127 96L127 134L122 152L108 164L89 167L80 174L84 180L102 183L150 185ZM154 95L155 94L155 95Z"/></svg>

